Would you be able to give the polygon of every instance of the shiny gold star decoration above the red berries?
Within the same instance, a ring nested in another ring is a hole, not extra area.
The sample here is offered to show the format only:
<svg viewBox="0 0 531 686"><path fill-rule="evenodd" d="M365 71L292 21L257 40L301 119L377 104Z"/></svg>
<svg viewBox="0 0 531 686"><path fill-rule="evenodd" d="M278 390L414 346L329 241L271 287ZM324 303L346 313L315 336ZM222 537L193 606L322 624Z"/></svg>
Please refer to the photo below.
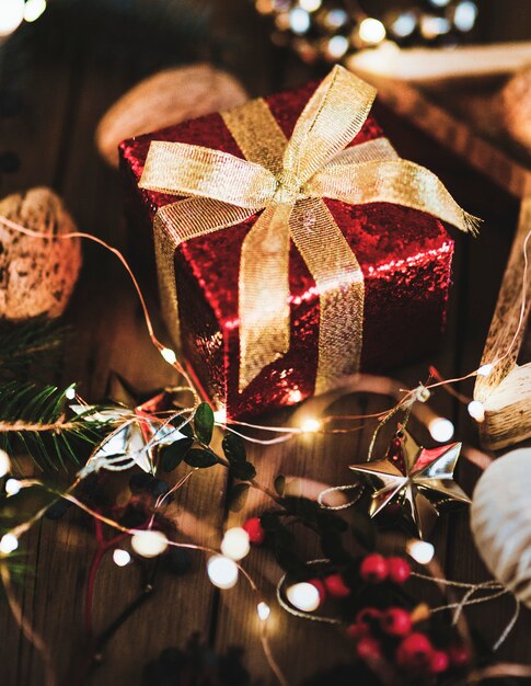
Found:
<svg viewBox="0 0 531 686"><path fill-rule="evenodd" d="M443 505L470 503L453 481L461 443L424 448L402 428L385 457L349 469L365 477L373 488L369 515L397 506L420 538L435 525Z"/></svg>

